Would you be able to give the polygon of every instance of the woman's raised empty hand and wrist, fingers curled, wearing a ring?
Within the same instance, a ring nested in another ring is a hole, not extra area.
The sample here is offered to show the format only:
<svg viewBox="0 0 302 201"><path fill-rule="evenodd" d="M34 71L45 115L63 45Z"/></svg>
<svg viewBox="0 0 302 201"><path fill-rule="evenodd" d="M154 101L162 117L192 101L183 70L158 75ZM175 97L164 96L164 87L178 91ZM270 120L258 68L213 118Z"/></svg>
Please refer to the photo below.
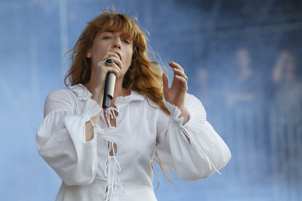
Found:
<svg viewBox="0 0 302 201"><path fill-rule="evenodd" d="M169 62L169 66L172 67L174 71L174 78L172 81L172 86L169 88L169 79L167 74L162 74L163 82L163 91L165 100L171 103L172 105L177 106L181 111L184 118L184 123L189 121L189 114L187 109L184 106L185 96L188 91L188 85L186 80L186 75L184 69L175 62Z"/></svg>

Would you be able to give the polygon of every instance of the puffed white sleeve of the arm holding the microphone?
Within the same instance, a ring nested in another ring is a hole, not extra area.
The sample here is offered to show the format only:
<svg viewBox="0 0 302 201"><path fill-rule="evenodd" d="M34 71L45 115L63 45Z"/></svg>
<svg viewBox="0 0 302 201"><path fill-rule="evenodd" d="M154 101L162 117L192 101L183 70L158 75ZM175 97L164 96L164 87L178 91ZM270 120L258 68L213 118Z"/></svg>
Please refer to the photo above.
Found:
<svg viewBox="0 0 302 201"><path fill-rule="evenodd" d="M101 107L87 99L76 115L76 101L67 89L51 92L44 105L44 120L36 133L39 155L67 185L87 185L95 178L98 165L96 130L91 141L85 141L85 123L98 115ZM103 130L102 130L103 132ZM103 132L104 133L104 132Z"/></svg>

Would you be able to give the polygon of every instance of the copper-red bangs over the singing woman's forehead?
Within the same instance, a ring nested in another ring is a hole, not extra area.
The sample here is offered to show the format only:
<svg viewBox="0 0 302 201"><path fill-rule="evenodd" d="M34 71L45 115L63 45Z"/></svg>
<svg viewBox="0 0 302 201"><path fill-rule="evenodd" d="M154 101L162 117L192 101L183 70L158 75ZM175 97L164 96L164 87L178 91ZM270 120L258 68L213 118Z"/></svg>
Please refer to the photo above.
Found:
<svg viewBox="0 0 302 201"><path fill-rule="evenodd" d="M122 14L110 14L104 18L104 26L102 27L103 31L121 31L122 37L126 39L135 39L140 33L137 25L128 17Z"/></svg>

